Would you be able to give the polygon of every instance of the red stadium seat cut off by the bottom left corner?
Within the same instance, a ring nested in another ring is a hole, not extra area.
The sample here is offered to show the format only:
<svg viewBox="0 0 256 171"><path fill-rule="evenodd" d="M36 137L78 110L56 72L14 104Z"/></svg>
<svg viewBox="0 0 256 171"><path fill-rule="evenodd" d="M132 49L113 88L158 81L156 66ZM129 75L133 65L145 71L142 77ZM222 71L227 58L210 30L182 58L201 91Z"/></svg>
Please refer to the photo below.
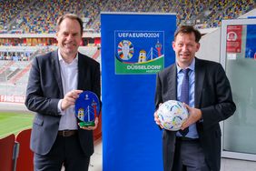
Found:
<svg viewBox="0 0 256 171"><path fill-rule="evenodd" d="M0 139L0 171L13 170L13 152L15 146L15 135Z"/></svg>

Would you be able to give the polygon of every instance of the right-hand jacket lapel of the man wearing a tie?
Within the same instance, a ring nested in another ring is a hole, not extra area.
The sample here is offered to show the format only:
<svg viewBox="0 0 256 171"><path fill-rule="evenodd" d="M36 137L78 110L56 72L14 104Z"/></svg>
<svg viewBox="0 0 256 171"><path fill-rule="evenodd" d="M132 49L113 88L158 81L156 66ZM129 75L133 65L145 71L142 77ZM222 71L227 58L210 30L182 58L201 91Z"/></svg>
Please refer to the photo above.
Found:
<svg viewBox="0 0 256 171"><path fill-rule="evenodd" d="M194 106L200 107L202 87L205 76L205 68L203 68L202 61L195 58L195 87L194 87Z"/></svg>

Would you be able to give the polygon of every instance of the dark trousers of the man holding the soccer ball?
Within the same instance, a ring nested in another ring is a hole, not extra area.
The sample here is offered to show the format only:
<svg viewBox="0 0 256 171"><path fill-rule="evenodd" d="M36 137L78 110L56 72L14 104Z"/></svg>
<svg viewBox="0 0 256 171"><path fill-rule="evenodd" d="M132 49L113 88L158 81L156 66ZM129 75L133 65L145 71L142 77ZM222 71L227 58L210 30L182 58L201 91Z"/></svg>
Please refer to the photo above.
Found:
<svg viewBox="0 0 256 171"><path fill-rule="evenodd" d="M172 171L210 171L199 140L180 140L175 144Z"/></svg>

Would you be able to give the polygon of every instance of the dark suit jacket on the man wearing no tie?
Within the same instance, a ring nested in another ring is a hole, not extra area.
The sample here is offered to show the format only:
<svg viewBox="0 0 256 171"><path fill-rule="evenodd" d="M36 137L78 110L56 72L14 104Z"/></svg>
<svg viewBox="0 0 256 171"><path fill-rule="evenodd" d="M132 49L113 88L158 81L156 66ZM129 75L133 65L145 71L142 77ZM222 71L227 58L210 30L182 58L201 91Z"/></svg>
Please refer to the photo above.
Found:
<svg viewBox="0 0 256 171"><path fill-rule="evenodd" d="M93 91L101 96L100 65L86 55L78 54L77 89ZM31 135L31 149L39 155L47 154L57 136L60 114L58 102L64 97L57 51L34 58L30 71L25 106L35 112ZM94 153L93 131L78 128L80 144L86 156Z"/></svg>

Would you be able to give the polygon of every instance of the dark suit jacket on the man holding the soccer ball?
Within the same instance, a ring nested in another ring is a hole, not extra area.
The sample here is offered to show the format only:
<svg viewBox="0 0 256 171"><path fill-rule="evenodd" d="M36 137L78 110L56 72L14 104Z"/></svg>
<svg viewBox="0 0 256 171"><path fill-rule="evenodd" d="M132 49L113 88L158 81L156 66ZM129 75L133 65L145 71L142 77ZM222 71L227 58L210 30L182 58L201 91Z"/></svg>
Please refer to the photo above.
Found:
<svg viewBox="0 0 256 171"><path fill-rule="evenodd" d="M157 75L155 107L168 100L177 100L177 68L171 65ZM202 110L203 122L197 122L206 162L213 171L221 168L221 128L219 122L233 115L236 106L231 86L222 65L195 58L194 106ZM176 132L163 131L164 171L172 170Z"/></svg>

